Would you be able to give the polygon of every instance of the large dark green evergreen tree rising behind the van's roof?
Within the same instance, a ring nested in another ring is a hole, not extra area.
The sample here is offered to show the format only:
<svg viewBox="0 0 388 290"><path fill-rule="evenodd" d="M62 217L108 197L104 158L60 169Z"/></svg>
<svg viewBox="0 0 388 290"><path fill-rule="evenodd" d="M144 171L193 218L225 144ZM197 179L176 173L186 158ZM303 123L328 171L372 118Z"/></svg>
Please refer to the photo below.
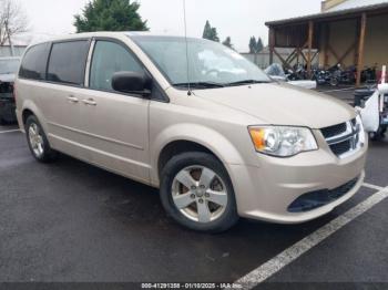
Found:
<svg viewBox="0 0 388 290"><path fill-rule="evenodd" d="M137 10L140 3L130 0L92 0L74 15L76 32L149 30Z"/></svg>

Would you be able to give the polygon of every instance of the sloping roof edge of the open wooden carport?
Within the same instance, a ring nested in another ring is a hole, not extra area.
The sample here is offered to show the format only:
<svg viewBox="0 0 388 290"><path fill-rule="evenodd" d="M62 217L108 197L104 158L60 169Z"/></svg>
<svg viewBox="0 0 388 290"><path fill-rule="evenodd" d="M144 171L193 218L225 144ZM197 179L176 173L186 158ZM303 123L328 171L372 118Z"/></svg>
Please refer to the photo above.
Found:
<svg viewBox="0 0 388 290"><path fill-rule="evenodd" d="M358 0L359 2L374 2L374 0ZM380 1L381 2L381 1ZM344 2L343 4L345 4ZM338 6L339 7L339 6ZM370 12L370 13L382 13L388 11L388 2L378 3L378 4L369 4L369 6L363 6L363 7L356 7L356 8L349 8L349 9L343 9L343 10L336 10L336 11L326 11L321 13L310 14L310 15L304 15L304 17L297 17L297 18L289 18L284 20L276 20L276 21L269 21L265 24L267 27L277 27L277 25L286 25L286 24L295 24L295 23L305 23L310 20L315 21L324 21L324 20L330 20L336 18L353 18L364 12Z"/></svg>

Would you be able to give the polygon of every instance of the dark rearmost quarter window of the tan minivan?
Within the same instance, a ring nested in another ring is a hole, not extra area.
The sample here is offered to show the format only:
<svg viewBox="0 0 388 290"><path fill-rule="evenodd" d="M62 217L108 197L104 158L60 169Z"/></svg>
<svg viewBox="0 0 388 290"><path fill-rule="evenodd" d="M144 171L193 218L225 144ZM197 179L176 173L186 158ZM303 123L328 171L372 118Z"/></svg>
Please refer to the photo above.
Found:
<svg viewBox="0 0 388 290"><path fill-rule="evenodd" d="M19 76L30 80L45 80L45 68L50 53L50 43L31 46L24 54Z"/></svg>

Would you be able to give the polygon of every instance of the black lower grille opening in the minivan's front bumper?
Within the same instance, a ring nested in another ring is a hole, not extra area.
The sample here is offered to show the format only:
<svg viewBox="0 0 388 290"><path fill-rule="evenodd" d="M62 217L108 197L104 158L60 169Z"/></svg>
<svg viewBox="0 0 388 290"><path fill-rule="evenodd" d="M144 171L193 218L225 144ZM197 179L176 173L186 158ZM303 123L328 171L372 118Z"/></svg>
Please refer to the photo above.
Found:
<svg viewBox="0 0 388 290"><path fill-rule="evenodd" d="M289 213L304 213L328 205L349 193L357 184L359 177L335 188L321 189L304 194L295 199L289 206Z"/></svg>

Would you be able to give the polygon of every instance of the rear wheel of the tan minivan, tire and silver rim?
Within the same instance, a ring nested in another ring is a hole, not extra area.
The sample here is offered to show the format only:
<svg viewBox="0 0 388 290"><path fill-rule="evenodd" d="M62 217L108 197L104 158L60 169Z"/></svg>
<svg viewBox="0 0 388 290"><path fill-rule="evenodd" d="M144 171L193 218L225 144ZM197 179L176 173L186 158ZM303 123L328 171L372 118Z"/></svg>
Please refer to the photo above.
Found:
<svg viewBox="0 0 388 290"><path fill-rule="evenodd" d="M52 149L45 133L34 115L25 121L25 136L32 156L41 163L50 163L58 158L58 152Z"/></svg>

